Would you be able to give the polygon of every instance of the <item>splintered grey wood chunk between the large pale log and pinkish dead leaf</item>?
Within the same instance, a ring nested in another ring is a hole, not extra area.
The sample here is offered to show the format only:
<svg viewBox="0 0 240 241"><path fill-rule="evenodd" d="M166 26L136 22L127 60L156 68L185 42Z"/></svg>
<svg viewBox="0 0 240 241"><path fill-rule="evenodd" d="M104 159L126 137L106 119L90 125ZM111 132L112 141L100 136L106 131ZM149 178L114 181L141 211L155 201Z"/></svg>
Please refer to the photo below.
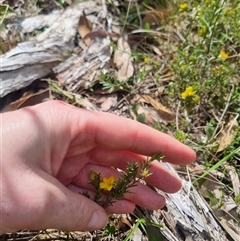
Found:
<svg viewBox="0 0 240 241"><path fill-rule="evenodd" d="M97 38L82 53L74 55L54 68L59 82L68 91L87 89L98 79L100 72L107 73L111 58L110 39Z"/></svg>

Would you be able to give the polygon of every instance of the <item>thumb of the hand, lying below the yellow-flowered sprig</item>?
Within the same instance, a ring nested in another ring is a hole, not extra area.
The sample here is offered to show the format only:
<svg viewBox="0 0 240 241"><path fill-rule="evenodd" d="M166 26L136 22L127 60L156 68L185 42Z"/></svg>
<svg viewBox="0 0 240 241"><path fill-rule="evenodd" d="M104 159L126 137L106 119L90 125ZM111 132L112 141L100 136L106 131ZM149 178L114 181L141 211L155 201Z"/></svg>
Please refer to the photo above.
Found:
<svg viewBox="0 0 240 241"><path fill-rule="evenodd" d="M57 193L56 193L57 192ZM93 231L102 229L107 223L105 210L90 200L89 198L71 191L62 186L51 192L47 205L49 210L45 210L45 227L56 228L65 231ZM54 201L53 201L54 200Z"/></svg>

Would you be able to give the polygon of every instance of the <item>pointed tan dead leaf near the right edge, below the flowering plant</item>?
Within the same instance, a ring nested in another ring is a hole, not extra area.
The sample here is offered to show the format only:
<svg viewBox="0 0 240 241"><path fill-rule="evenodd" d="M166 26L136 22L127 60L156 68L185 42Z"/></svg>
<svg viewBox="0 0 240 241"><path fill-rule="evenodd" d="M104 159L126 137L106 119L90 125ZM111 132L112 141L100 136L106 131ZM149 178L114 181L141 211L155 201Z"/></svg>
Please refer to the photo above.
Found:
<svg viewBox="0 0 240 241"><path fill-rule="evenodd" d="M233 142L237 133L238 122L236 118L232 118L217 137L216 141L219 143L217 152L221 152L227 148Z"/></svg>

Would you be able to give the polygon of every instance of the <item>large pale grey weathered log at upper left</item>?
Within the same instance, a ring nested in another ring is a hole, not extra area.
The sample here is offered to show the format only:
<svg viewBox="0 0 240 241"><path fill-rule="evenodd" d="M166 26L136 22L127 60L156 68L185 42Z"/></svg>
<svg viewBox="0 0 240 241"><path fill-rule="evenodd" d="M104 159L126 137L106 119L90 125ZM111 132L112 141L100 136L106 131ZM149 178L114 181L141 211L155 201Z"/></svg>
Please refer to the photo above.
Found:
<svg viewBox="0 0 240 241"><path fill-rule="evenodd" d="M82 2L65 11L28 18L19 25L14 25L22 33L46 29L30 41L19 43L16 48L0 56L1 98L45 77L52 72L54 66L69 57L69 52L74 48L77 24L83 10L94 22L96 17L91 14L99 15L103 8L93 1Z"/></svg>

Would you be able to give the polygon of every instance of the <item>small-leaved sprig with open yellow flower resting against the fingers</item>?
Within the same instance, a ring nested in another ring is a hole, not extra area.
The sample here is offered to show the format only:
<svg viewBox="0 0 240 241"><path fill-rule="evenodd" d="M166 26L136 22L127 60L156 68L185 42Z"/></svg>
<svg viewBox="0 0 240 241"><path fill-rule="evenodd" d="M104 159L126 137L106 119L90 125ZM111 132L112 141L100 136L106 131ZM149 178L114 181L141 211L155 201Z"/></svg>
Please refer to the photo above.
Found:
<svg viewBox="0 0 240 241"><path fill-rule="evenodd" d="M140 181L151 175L149 172L151 162L162 158L163 155L158 153L146 161L128 163L126 171L122 172L118 178L102 177L101 173L90 171L89 183L95 188L94 201L106 208L113 205L116 200L123 199L132 187L137 186ZM83 193L83 195L89 197L87 193Z"/></svg>

